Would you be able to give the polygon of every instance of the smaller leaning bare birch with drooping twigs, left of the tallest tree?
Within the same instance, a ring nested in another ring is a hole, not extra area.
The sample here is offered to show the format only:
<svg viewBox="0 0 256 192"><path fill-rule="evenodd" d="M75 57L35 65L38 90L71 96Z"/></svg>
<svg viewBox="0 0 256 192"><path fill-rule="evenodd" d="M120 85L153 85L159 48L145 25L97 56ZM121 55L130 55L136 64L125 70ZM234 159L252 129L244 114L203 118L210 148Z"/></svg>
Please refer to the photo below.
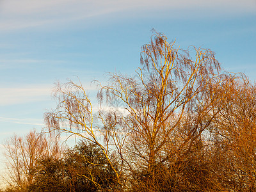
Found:
<svg viewBox="0 0 256 192"><path fill-rule="evenodd" d="M58 99L57 108L54 111L45 113L45 122L50 131L66 132L83 140L90 141L97 145L106 157L108 164L115 173L115 182L118 188L122 188L123 164L116 168L113 150L119 154L123 162L122 148L126 134L118 118L113 118L111 113L105 115L98 113L93 115L92 103L82 84L68 81L66 84L56 84L55 97ZM97 112L97 111L95 111ZM96 122L95 122L96 119ZM116 129L118 127L118 129ZM122 134L119 134L122 132ZM93 164L93 162L90 162ZM102 185L92 175L86 179L91 180L97 188Z"/></svg>

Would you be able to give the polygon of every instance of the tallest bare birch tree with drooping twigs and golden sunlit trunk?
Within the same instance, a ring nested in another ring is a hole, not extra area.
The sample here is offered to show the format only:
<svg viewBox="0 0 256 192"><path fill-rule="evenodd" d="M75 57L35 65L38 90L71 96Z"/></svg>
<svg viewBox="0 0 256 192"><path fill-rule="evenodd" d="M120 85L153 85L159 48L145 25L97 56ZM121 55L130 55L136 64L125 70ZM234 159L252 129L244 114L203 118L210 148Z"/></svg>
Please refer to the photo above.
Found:
<svg viewBox="0 0 256 192"><path fill-rule="evenodd" d="M138 78L111 74L109 86L102 86L100 101L118 100L127 111L120 118L130 132L126 163L137 175L145 172L145 188L139 191L160 190L157 170L183 159L218 114L212 108L218 100L210 97L212 85L222 81L219 72L214 52L193 46L183 51L154 33L142 48Z"/></svg>

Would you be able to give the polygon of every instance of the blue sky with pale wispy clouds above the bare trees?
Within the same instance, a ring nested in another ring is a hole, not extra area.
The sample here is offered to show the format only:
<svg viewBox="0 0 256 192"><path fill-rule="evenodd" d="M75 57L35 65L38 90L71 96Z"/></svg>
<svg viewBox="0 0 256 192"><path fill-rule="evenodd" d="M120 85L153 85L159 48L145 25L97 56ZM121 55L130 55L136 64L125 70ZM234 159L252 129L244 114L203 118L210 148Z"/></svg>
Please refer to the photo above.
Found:
<svg viewBox="0 0 256 192"><path fill-rule="evenodd" d="M57 81L93 95L107 72L134 74L152 28L256 81L256 0L0 0L0 149L44 127Z"/></svg>

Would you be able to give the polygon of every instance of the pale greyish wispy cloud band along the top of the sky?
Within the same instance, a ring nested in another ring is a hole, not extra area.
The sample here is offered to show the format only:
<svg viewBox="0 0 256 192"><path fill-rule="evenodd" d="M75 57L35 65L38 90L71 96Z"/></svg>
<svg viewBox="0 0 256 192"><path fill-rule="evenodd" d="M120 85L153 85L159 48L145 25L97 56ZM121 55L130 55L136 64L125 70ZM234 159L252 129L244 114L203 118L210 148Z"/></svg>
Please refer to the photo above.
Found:
<svg viewBox="0 0 256 192"><path fill-rule="evenodd" d="M248 13L256 11L255 0L4 0L0 3L1 19L0 29L20 29L37 26L52 26L52 24L65 24L74 20L90 19L95 16L118 13L119 15L130 12L140 13L147 10L168 10L172 14L173 10L212 10L216 15L220 10L225 13ZM148 14L151 12L148 12ZM182 15L184 15L182 13ZM177 14L173 13L173 14Z"/></svg>

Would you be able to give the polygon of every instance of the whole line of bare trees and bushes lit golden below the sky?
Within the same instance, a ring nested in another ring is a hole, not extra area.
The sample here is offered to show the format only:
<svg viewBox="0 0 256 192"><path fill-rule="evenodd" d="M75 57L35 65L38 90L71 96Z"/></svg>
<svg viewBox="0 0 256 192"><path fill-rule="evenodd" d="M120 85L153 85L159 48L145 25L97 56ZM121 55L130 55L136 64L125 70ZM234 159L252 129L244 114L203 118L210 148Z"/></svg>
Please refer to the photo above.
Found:
<svg viewBox="0 0 256 192"><path fill-rule="evenodd" d="M50 137L5 145L8 190L255 191L255 93L211 50L179 49L155 31L136 78L99 83L97 111L81 83L56 84ZM81 141L62 150L53 132Z"/></svg>

